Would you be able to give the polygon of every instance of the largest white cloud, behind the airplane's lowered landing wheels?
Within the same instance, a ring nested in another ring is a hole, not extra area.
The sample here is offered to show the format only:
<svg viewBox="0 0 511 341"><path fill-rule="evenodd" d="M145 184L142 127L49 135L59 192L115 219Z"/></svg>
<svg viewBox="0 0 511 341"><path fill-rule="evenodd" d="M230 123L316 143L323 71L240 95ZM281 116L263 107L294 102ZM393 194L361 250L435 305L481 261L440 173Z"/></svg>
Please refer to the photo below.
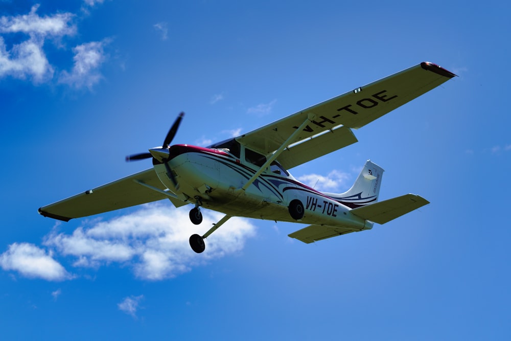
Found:
<svg viewBox="0 0 511 341"><path fill-rule="evenodd" d="M53 231L44 245L63 256L74 256L74 266L98 267L121 263L137 278L162 280L189 271L193 266L226 254L239 252L255 227L248 219L231 218L206 239L206 251L196 254L190 235L205 233L222 214L202 210L203 222L193 225L188 210L152 203L132 214L109 221L93 222L73 234Z"/></svg>

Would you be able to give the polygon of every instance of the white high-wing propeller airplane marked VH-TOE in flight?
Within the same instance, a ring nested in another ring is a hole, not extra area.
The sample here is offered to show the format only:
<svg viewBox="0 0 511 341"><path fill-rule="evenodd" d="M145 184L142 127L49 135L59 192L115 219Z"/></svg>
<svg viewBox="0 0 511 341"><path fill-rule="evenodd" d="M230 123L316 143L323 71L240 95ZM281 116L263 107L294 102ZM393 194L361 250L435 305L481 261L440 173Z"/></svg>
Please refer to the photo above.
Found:
<svg viewBox="0 0 511 341"><path fill-rule="evenodd" d="M378 201L383 169L371 161L341 194L301 184L288 169L357 142L352 129L454 76L423 62L206 148L171 145L181 113L161 147L126 157L152 158L152 168L41 207L39 213L68 221L161 199L175 207L192 204L194 224L202 222L201 208L224 213L205 234L190 237L196 253L233 216L309 224L289 235L305 243L370 230L375 222L384 224L429 202L415 194Z"/></svg>

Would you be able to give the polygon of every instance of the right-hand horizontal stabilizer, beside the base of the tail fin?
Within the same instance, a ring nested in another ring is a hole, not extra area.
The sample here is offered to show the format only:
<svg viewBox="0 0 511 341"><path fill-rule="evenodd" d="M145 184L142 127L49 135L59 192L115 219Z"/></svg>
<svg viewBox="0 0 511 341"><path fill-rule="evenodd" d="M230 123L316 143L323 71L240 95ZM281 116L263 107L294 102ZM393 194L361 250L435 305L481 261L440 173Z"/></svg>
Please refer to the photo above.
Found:
<svg viewBox="0 0 511 341"><path fill-rule="evenodd" d="M406 194L353 209L351 213L363 219L384 224L428 203L428 200L419 195Z"/></svg>

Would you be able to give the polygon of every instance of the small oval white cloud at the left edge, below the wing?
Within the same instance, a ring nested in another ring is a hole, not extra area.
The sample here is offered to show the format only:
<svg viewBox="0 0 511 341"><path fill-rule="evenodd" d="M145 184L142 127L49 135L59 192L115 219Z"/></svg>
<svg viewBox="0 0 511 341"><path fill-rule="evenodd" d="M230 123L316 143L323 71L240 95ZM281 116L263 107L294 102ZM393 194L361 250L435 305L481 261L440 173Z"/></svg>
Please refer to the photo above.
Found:
<svg viewBox="0 0 511 341"><path fill-rule="evenodd" d="M60 263L53 259L51 253L29 243L13 243L0 255L0 266L4 270L19 272L29 278L42 278L48 281L71 279Z"/></svg>

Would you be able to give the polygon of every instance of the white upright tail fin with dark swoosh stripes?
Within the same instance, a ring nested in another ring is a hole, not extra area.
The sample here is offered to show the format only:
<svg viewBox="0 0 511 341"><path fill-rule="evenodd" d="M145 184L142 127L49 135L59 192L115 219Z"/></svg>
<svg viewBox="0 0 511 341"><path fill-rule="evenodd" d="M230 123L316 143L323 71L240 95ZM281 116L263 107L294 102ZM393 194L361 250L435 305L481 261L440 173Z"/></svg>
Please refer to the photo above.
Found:
<svg viewBox="0 0 511 341"><path fill-rule="evenodd" d="M366 206L378 201L382 175L383 168L367 160L349 191L342 194L325 194L352 209Z"/></svg>

